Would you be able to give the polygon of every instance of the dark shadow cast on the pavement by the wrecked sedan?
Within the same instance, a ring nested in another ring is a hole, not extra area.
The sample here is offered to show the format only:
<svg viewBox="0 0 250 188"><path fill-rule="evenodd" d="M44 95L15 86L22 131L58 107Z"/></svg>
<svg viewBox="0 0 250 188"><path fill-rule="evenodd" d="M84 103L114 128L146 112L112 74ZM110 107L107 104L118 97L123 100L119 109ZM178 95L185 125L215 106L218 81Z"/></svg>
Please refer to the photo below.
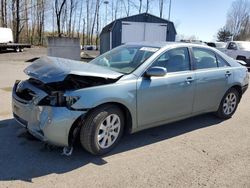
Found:
<svg viewBox="0 0 250 188"><path fill-rule="evenodd" d="M137 149L190 131L219 124L220 120L207 114L165 126L125 135L108 156ZM49 150L38 140L31 139L15 120L0 121L0 181L22 180L56 173L62 174L86 164L105 165L103 157L92 156L77 145L72 156L60 155L62 148Z"/></svg>

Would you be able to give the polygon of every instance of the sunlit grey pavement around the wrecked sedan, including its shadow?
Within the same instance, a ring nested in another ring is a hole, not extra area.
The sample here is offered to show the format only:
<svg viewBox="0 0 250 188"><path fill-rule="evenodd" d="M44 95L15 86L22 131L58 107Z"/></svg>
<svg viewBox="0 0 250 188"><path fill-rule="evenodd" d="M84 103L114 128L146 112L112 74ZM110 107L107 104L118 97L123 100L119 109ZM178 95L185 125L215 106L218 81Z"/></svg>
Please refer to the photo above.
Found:
<svg viewBox="0 0 250 188"><path fill-rule="evenodd" d="M11 116L11 86L43 50L0 54L0 187L250 187L250 90L227 121L201 115L125 135L106 156L66 157Z"/></svg>

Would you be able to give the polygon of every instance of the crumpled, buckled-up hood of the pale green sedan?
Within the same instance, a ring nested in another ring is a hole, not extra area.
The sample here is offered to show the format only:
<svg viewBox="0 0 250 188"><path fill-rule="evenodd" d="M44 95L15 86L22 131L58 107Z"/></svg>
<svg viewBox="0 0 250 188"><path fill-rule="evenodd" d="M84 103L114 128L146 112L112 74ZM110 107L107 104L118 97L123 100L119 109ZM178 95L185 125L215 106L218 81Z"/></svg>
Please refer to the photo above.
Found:
<svg viewBox="0 0 250 188"><path fill-rule="evenodd" d="M63 59L57 57L41 57L24 69L25 74L43 83L63 81L67 75L93 76L118 79L123 74L101 66Z"/></svg>

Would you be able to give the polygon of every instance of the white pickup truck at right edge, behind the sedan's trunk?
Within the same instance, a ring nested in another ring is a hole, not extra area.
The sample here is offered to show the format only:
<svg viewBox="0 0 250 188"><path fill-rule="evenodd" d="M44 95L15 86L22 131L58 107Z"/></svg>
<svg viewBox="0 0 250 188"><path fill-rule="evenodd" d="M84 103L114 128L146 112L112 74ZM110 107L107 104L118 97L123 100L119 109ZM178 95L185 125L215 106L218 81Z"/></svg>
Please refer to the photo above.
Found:
<svg viewBox="0 0 250 188"><path fill-rule="evenodd" d="M234 59L244 61L246 66L250 68L250 42L228 42L223 52Z"/></svg>

